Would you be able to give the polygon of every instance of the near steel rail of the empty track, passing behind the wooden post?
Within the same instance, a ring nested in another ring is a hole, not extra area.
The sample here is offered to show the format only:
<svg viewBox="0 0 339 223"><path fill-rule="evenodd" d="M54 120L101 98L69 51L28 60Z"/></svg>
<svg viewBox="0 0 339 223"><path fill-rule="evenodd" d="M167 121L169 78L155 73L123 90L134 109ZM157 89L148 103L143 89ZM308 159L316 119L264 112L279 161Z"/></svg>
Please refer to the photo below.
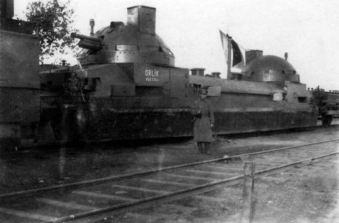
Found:
<svg viewBox="0 0 339 223"><path fill-rule="evenodd" d="M332 152L332 153L329 153L329 154L326 154L326 155L321 155L319 157L312 157L312 158L309 158L309 159L303 159L303 160L299 160L297 162L292 162L292 163L289 163L289 164L283 164L283 165L278 166L278 167L272 167L272 168L268 168L268 169L263 169L261 171L255 171L254 175L256 176L256 178L258 178L258 175L267 174L271 171L276 171L276 170L279 170L279 169L285 169L287 167L295 166L297 164L308 164L308 163L310 163L310 162L312 162L316 159L321 159L321 158L324 158L324 157L330 157L330 156L338 155L338 154L339 154L339 152ZM83 212L83 213L79 213L79 214L76 214L76 215L71 215L71 216L68 216L68 217L61 217L61 218L56 219L54 221L44 222L44 223L66 222L66 221L78 219L78 218L81 218L81 217L89 217L91 215L97 215L97 214L100 214L100 213L103 213L103 212L109 212L109 211L124 209L125 207L131 207L131 206L141 205L141 204L145 204L145 203L149 203L149 202L154 202L155 200L160 200L160 199L172 197L172 196L175 196L175 195L183 195L184 193L190 193L192 191L198 191L198 190L201 190L201 189L210 188L210 187L213 187L213 186L220 185L222 183L229 183L229 182L237 181L237 180L243 179L243 178L244 178L244 175L234 176L234 177L231 177L231 178L228 178L228 179L223 179L223 180L220 180L220 181L214 181L214 182L211 182L211 183L205 183L205 184L202 184L202 185L199 185L199 186L194 186L194 187L182 189L182 190L179 190L179 191L169 192L169 193L162 194L162 195L155 195L153 197L145 198L143 200L136 200L136 201L133 201L131 203L124 203L124 204L121 204L121 205L104 207L104 208L100 208L100 209L97 209L97 210L91 210L91 211L88 211L88 212Z"/></svg>

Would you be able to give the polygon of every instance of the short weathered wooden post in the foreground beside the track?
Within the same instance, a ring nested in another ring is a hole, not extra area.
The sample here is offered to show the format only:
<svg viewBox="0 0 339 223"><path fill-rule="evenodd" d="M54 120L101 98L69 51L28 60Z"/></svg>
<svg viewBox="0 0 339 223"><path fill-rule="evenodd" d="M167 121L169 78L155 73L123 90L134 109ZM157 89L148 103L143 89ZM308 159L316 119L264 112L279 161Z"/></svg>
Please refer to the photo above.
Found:
<svg viewBox="0 0 339 223"><path fill-rule="evenodd" d="M240 223L252 222L252 200L254 193L254 162L245 162L244 166L244 189L242 192L242 215Z"/></svg>

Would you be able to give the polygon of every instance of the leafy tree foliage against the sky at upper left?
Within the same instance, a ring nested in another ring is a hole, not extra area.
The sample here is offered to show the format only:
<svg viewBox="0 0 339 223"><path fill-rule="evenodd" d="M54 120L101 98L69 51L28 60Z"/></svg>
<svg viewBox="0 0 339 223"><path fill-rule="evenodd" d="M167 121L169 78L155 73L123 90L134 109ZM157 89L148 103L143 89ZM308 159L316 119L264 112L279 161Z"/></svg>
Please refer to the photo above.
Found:
<svg viewBox="0 0 339 223"><path fill-rule="evenodd" d="M59 0L48 0L46 4L42 1L35 1L27 6L26 17L28 21L37 23L39 27L40 40L40 61L54 52L65 53L65 47L74 49L76 40L72 39L71 32L76 32L71 27L73 23L73 9L68 8L71 0L66 4L59 3Z"/></svg>

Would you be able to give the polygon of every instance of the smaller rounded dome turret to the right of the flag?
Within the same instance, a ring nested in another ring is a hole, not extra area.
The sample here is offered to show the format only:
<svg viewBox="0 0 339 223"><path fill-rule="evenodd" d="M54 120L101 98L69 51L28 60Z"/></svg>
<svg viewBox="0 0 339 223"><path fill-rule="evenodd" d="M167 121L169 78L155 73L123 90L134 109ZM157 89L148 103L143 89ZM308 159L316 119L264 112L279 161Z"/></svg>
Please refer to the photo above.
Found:
<svg viewBox="0 0 339 223"><path fill-rule="evenodd" d="M279 56L258 56L249 61L242 69L242 80L299 83L299 74L295 68Z"/></svg>

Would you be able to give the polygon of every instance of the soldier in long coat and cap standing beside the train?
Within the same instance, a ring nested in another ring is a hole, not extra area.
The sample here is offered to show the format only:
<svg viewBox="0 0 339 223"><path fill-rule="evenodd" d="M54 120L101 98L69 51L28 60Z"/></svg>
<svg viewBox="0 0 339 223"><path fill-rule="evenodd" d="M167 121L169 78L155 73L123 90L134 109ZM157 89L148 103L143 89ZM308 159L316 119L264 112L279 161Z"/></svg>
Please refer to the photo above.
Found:
<svg viewBox="0 0 339 223"><path fill-rule="evenodd" d="M198 144L198 153L206 152L210 155L210 143L213 142L211 127L214 126L213 106L207 97L207 89L199 90L200 97L194 102L191 111L195 116L194 138ZM203 143L205 150L203 150Z"/></svg>

